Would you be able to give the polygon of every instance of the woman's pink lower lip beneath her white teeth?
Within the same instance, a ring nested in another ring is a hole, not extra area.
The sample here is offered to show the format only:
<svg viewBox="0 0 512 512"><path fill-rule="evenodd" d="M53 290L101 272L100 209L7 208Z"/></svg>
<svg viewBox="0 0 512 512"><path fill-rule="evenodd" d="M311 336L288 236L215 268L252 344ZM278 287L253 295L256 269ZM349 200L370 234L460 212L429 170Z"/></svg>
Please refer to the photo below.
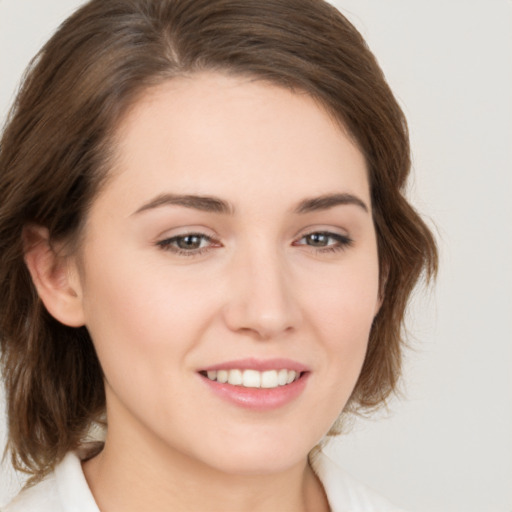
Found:
<svg viewBox="0 0 512 512"><path fill-rule="evenodd" d="M200 375L208 387L222 399L245 409L254 411L270 411L284 407L304 391L309 372L303 373L299 379L277 388L245 388L231 384L221 384Z"/></svg>

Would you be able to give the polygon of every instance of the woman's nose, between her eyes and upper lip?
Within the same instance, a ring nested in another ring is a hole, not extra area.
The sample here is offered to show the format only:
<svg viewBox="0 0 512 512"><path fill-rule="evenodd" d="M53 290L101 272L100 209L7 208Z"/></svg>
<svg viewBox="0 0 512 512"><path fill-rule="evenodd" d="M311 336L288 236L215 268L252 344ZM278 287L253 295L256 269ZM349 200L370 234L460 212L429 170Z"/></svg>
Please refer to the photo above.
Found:
<svg viewBox="0 0 512 512"><path fill-rule="evenodd" d="M286 258L271 247L248 252L250 255L231 262L229 298L224 307L227 326L261 340L296 330L301 309Z"/></svg>

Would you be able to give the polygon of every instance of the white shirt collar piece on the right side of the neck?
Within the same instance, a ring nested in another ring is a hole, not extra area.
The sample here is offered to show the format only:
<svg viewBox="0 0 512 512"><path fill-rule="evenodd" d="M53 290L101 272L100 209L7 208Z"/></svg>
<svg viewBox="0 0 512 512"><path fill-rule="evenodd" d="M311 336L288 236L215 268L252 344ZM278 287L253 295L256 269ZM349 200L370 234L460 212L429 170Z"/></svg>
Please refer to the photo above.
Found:
<svg viewBox="0 0 512 512"><path fill-rule="evenodd" d="M325 453L311 465L324 486L332 512L404 512L341 469Z"/></svg>

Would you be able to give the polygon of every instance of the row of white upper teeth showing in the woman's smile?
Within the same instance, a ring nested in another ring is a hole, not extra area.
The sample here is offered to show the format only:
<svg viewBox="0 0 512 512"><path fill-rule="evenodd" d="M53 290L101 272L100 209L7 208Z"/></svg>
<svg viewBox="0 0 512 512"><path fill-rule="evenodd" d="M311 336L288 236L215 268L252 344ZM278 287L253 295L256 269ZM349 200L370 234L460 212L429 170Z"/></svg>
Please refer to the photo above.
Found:
<svg viewBox="0 0 512 512"><path fill-rule="evenodd" d="M229 383L233 386L242 386L245 388L277 388L286 386L296 381L300 377L300 372L295 370L267 370L259 372L257 370L213 370L206 372L210 380L222 384Z"/></svg>

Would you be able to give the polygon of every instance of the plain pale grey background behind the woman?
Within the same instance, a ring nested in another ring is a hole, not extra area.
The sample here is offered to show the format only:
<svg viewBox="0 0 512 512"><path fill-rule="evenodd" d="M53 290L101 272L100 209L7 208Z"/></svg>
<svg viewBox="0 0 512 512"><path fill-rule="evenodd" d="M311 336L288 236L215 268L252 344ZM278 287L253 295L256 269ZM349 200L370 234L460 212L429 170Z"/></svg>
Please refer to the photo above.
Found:
<svg viewBox="0 0 512 512"><path fill-rule="evenodd" d="M0 0L2 119L29 59L80 3ZM512 2L333 3L409 119L410 194L438 234L441 271L411 309L405 398L329 449L411 512L511 512ZM0 503L19 482L4 464Z"/></svg>

